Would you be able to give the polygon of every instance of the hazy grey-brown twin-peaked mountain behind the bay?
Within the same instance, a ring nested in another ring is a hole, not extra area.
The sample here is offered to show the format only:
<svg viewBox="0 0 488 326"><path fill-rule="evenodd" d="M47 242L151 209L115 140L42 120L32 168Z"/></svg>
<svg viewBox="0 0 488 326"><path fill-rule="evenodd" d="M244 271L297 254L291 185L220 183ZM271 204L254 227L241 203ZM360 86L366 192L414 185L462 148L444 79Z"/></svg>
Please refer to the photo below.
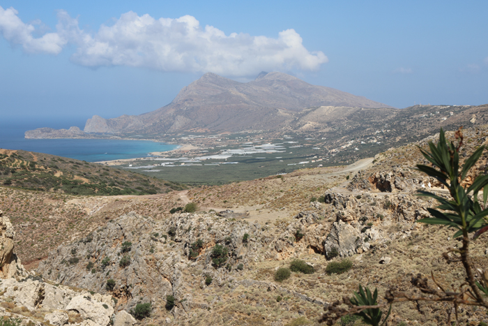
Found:
<svg viewBox="0 0 488 326"><path fill-rule="evenodd" d="M261 73L242 83L206 73L163 108L138 116L86 121L85 133L275 130L306 108L391 108L344 91L308 84L284 73Z"/></svg>

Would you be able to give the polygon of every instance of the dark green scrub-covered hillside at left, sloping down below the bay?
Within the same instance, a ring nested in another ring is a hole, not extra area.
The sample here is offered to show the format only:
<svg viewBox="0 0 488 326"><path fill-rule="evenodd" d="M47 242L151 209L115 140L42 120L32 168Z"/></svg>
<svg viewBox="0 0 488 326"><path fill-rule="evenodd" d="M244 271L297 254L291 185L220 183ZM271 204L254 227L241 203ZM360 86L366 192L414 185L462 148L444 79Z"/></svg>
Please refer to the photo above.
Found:
<svg viewBox="0 0 488 326"><path fill-rule="evenodd" d="M183 186L71 158L0 149L0 183L70 195L145 195Z"/></svg>

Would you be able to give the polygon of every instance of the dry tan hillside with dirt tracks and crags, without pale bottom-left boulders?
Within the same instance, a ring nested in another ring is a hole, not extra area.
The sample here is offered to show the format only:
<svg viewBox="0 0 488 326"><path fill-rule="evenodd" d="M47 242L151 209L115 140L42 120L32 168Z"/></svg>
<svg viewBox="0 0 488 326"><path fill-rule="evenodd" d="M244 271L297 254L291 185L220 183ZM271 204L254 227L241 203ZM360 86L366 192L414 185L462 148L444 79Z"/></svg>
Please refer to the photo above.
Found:
<svg viewBox="0 0 488 326"><path fill-rule="evenodd" d="M435 205L415 191L431 184L432 191L444 193L414 168L423 161L416 146L425 147L429 140L435 142L436 136L388 149L374 163L297 170L179 193L64 196L56 199L57 209L96 207L67 227L63 214L56 215L52 224L61 225L66 240L57 247L47 244L50 249L43 252L49 255L37 272L56 284L114 297L114 311L150 302L151 316L138 325L306 325L359 283L378 288L380 302L392 286L415 292L411 277L417 274L433 272L440 283L460 286L462 266L442 258L446 248L459 246L452 231L415 223ZM467 128L462 159L487 143L487 126ZM487 164L484 154L468 182L485 173ZM1 198L8 201L3 207L15 207L9 216L21 209L32 216L32 209L44 212L36 195L4 188ZM169 214L190 201L199 205L198 212ZM234 214L215 212L226 208ZM37 228L49 223L42 217L36 217ZM22 228L19 221L12 218L15 228ZM17 244L24 252L20 257L48 239ZM470 249L479 267L488 263L486 241L485 233ZM349 270L329 272L330 262L344 258L352 262ZM296 259L308 264L307 270L312 266L313 273L292 272L289 279L275 281L277 269ZM168 295L174 306L167 306ZM484 309L459 311L459 320L469 325L485 316ZM390 318L393 325L434 326L446 323L447 314L443 304L411 302L395 305Z"/></svg>

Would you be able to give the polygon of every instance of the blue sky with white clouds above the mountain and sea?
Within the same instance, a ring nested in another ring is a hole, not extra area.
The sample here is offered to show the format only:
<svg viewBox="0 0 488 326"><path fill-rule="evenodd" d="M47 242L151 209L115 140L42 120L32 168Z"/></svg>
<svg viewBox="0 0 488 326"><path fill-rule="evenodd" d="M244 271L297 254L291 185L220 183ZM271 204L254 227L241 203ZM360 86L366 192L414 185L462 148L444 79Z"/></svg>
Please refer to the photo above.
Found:
<svg viewBox="0 0 488 326"><path fill-rule="evenodd" d="M484 0L0 0L0 112L142 114L204 73L261 71L395 108L481 105L487 14Z"/></svg>

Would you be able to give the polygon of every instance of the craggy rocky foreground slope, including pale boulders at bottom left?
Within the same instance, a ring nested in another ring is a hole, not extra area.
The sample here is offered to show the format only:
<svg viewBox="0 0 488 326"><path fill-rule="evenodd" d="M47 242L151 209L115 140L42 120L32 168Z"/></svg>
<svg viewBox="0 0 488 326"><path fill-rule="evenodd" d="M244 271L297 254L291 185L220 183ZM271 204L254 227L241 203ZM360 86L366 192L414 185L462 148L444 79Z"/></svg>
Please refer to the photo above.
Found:
<svg viewBox="0 0 488 326"><path fill-rule="evenodd" d="M486 131L466 135L471 140L463 158L488 142ZM442 254L460 242L451 230L415 223L436 205L416 196L419 188L448 195L412 168L420 161L417 151L386 151L372 168L325 191L292 218L250 222L215 212L126 212L61 244L30 274L13 254L15 234L3 218L0 312L25 325L312 325L359 284L377 288L380 303L392 286L415 293L411 278L418 274L434 274L439 284L457 288L464 269L448 265ZM487 166L484 155L468 180ZM470 249L477 267L488 264L486 243L481 235ZM305 269L277 279L278 270L297 260ZM331 263L348 268L339 273ZM137 313L142 306L146 313ZM390 321L445 325L446 309L441 303L397 304ZM459 320L488 322L483 309L469 307L459 309Z"/></svg>

